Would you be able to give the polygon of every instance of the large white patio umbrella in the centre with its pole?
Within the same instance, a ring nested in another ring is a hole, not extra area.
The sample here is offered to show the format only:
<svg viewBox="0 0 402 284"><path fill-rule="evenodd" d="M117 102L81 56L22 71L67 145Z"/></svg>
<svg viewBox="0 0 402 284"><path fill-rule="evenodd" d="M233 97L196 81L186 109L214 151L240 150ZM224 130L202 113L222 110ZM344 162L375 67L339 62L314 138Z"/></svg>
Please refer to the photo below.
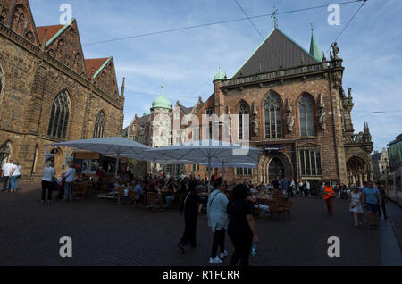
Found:
<svg viewBox="0 0 402 284"><path fill-rule="evenodd" d="M148 149L157 160L191 161L208 166L208 188L212 163L258 163L260 149L218 140L199 140L173 146Z"/></svg>

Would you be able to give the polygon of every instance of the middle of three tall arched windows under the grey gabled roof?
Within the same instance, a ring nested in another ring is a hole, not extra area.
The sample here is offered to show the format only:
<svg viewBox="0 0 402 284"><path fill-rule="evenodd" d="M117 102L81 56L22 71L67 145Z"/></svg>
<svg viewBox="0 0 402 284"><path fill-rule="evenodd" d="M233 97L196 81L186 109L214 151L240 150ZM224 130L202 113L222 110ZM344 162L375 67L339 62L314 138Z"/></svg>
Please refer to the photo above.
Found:
<svg viewBox="0 0 402 284"><path fill-rule="evenodd" d="M282 138L281 97L271 93L265 100L265 138Z"/></svg>

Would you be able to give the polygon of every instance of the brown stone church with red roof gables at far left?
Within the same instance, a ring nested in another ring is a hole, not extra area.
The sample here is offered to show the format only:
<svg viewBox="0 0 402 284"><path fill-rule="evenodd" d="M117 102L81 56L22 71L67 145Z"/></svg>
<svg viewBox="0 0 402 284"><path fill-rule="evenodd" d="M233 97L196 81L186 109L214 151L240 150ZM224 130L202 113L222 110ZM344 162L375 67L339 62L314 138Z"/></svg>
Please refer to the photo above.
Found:
<svg viewBox="0 0 402 284"><path fill-rule="evenodd" d="M123 105L113 57L84 58L75 19L37 27L27 0L0 0L0 163L40 180L53 158L60 175L72 150L46 144L120 136Z"/></svg>

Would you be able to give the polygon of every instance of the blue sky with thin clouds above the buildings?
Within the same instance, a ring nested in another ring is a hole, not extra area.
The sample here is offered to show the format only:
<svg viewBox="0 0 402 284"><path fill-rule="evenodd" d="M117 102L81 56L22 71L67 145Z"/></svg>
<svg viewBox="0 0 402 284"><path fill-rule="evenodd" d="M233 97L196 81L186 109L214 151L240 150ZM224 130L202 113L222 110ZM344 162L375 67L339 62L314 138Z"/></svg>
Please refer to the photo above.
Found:
<svg viewBox="0 0 402 284"><path fill-rule="evenodd" d="M249 16L279 13L347 0L238 0ZM36 24L58 24L61 4L71 4L86 58L113 55L118 80L126 78L124 127L137 113L149 113L152 100L164 95L175 104L196 104L213 93L212 79L221 66L228 77L262 42L249 21L234 21L131 38L99 45L86 44L176 29L215 21L244 18L234 0L30 0ZM279 28L308 50L311 28L321 51L328 51L361 3L340 5L340 25L330 26L326 8L280 14ZM381 150L402 132L402 1L368 0L338 40L346 67L345 91L353 88L355 132L369 123L374 150ZM253 20L266 37L270 17ZM327 57L329 57L327 55ZM373 114L382 111L386 113Z"/></svg>

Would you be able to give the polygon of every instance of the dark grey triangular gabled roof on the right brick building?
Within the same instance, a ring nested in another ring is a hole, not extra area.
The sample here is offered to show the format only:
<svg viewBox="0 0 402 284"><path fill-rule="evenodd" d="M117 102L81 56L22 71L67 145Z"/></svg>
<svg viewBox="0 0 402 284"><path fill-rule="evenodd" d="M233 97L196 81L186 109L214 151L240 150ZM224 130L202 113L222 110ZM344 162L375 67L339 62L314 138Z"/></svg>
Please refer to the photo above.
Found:
<svg viewBox="0 0 402 284"><path fill-rule="evenodd" d="M295 41L275 28L258 46L255 53L237 71L233 79L300 66L302 57L305 64L318 63L314 57Z"/></svg>

